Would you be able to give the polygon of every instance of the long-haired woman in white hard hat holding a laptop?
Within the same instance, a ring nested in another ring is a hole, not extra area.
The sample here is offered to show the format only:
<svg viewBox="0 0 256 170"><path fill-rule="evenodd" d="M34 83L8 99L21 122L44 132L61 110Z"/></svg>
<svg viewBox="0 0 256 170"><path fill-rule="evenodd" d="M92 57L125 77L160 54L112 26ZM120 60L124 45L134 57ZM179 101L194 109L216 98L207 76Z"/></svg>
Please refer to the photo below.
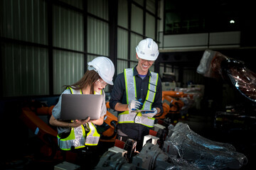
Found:
<svg viewBox="0 0 256 170"><path fill-rule="evenodd" d="M95 125L102 125L104 115L107 113L104 88L107 84L113 85L114 64L107 57L96 57L88 62L88 69L82 79L73 85L66 86L62 94L101 94L101 115L97 120L70 120L63 121L60 118L61 97L53 108L50 117L50 125L57 126L58 145L60 149L79 149L85 146L95 146L100 140ZM72 113L70 113L72 114Z"/></svg>

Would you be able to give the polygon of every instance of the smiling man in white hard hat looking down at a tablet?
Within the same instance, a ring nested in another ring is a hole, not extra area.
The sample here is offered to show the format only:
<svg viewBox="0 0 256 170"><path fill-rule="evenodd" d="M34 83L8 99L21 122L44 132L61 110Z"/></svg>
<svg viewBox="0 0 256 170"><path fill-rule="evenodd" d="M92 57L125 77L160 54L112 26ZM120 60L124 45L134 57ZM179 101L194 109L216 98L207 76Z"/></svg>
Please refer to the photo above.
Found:
<svg viewBox="0 0 256 170"><path fill-rule="evenodd" d="M111 92L110 108L118 111L117 139L137 141L138 151L144 136L154 127L154 115L163 112L161 79L159 74L149 71L158 55L154 40L140 41L136 47L138 64L117 75ZM138 109L151 112L136 112Z"/></svg>

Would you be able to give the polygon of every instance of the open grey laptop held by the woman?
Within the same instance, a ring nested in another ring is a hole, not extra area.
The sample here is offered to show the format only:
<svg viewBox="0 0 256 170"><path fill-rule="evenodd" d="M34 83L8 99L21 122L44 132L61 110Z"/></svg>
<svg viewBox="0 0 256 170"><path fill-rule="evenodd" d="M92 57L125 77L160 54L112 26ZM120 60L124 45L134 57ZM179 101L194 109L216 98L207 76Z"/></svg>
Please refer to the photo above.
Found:
<svg viewBox="0 0 256 170"><path fill-rule="evenodd" d="M100 118L102 95L63 94L61 100L60 120L90 120Z"/></svg>

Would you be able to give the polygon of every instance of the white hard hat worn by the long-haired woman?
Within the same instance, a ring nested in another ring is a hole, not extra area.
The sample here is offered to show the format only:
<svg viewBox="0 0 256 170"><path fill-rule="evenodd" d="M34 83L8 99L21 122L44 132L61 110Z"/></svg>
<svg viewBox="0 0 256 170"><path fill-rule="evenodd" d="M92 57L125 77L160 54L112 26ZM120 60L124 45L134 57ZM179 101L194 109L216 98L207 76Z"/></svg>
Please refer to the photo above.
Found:
<svg viewBox="0 0 256 170"><path fill-rule="evenodd" d="M87 64L88 70L95 70L107 84L113 85L114 64L109 58L96 57Z"/></svg>

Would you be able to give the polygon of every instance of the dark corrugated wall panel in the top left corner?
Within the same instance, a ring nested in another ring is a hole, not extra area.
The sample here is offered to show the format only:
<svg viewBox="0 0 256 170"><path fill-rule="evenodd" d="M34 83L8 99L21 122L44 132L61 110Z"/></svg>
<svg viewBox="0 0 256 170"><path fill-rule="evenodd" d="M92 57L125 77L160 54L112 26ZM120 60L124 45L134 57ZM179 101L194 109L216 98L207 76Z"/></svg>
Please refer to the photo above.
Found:
<svg viewBox="0 0 256 170"><path fill-rule="evenodd" d="M1 0L1 36L48 44L45 1Z"/></svg>

